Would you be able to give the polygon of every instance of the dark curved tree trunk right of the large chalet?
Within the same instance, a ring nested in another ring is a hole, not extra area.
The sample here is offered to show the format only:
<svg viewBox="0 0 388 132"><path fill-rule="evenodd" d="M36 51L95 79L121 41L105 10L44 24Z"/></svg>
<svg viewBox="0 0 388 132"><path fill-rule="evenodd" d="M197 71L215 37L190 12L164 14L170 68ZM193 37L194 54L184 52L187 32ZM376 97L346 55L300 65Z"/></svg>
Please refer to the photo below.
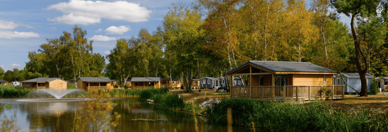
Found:
<svg viewBox="0 0 388 132"><path fill-rule="evenodd" d="M357 38L357 32L356 32L356 27L355 27L355 20L356 20L356 15L352 15L352 21L350 23L351 25L351 30L352 30L352 36L355 44L355 50L356 50L356 67L358 74L360 75L361 79L361 92L360 96L368 96L368 86L367 86L367 79L365 77L367 71L368 71L368 62L367 59L364 55L364 53L360 49L360 44L358 42ZM362 56L364 67L362 67L361 62L360 62L360 55Z"/></svg>

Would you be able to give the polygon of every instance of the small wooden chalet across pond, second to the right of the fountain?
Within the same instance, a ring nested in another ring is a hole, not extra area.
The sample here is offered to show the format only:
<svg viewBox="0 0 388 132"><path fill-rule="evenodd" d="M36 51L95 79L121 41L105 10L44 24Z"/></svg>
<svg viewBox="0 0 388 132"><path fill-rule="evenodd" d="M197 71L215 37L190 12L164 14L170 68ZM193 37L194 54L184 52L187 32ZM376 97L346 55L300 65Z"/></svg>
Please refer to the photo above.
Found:
<svg viewBox="0 0 388 132"><path fill-rule="evenodd" d="M159 77L133 77L130 80L131 89L145 89L145 88L160 88L161 86L161 78Z"/></svg>

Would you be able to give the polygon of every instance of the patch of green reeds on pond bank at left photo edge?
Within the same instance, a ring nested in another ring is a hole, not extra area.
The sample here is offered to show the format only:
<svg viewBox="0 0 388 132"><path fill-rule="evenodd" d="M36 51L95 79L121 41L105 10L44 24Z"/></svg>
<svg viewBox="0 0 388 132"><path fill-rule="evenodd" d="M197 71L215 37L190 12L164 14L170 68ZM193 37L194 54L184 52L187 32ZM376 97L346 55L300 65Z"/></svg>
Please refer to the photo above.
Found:
<svg viewBox="0 0 388 132"><path fill-rule="evenodd" d="M23 97L32 89L16 89L15 86L0 85L0 97Z"/></svg>

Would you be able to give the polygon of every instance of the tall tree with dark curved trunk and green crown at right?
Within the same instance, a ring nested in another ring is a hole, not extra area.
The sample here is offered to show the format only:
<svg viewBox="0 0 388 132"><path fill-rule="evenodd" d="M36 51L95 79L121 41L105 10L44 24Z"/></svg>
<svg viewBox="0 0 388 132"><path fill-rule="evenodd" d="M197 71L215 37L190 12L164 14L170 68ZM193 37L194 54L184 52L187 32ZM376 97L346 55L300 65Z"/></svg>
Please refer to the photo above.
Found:
<svg viewBox="0 0 388 132"><path fill-rule="evenodd" d="M369 64L366 52L361 49L362 43L360 42L355 22L357 16L369 18L376 17L380 2L380 0L331 0L333 6L337 8L338 13L343 13L346 16L351 17L350 27L356 53L355 63L361 79L360 96L368 96L367 80L365 75L369 70Z"/></svg>

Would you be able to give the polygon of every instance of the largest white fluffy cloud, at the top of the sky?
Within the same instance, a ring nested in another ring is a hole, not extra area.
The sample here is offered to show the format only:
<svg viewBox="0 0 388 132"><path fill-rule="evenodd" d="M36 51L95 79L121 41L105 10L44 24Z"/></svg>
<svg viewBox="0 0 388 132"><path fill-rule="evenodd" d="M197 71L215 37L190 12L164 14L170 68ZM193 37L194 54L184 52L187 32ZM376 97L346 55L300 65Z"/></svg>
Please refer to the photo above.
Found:
<svg viewBox="0 0 388 132"><path fill-rule="evenodd" d="M144 6L141 7L140 4L127 1L69 0L69 2L50 5L46 9L56 9L65 13L63 16L48 18L49 21L82 25L100 23L101 18L129 22L148 21L152 13L151 10L147 10Z"/></svg>

